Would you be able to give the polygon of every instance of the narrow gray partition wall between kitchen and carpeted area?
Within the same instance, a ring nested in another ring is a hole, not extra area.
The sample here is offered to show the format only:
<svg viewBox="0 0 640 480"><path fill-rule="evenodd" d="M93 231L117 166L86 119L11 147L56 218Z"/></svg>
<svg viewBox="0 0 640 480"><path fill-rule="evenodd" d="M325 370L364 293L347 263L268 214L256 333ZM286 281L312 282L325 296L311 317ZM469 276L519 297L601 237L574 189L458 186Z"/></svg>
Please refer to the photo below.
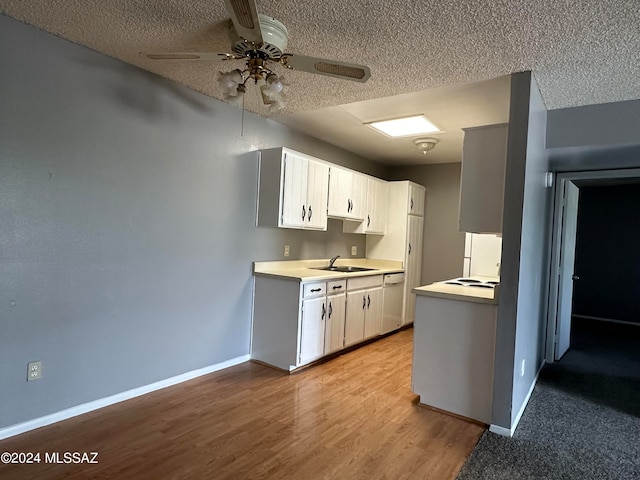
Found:
<svg viewBox="0 0 640 480"><path fill-rule="evenodd" d="M507 429L544 356L550 200L545 134L546 109L535 80L528 72L513 75L492 413L492 423Z"/></svg>

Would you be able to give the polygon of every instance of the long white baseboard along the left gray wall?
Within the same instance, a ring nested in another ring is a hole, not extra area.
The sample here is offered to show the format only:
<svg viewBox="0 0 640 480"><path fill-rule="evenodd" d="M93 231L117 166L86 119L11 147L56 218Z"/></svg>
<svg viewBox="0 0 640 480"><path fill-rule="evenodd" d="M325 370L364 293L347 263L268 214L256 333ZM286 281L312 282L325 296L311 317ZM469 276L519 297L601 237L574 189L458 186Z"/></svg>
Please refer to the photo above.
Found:
<svg viewBox="0 0 640 480"><path fill-rule="evenodd" d="M202 375L217 372L218 370L247 362L250 360L250 358L250 355L242 355L225 362L216 363L215 365L209 365L208 367L199 368L197 370L191 370L190 372L186 372L181 375L176 375L175 377L166 378L164 380L160 380L159 382L133 388L131 390L127 390L126 392L116 393L115 395L111 395L109 397L99 398L98 400L94 400L92 402L76 405L75 407L67 408L59 412L45 415L44 417L34 418L32 420L27 420L26 422L18 423L5 428L0 428L0 440L13 437L24 432L28 432L29 430L35 430L36 428L44 427L46 425L51 425L52 423L60 422L71 417L76 417L78 415L82 415L83 413L98 410L99 408L107 407L109 405L113 405L114 403L119 403L131 398L139 397L140 395L145 395L162 388L177 385L178 383L186 382L187 380L201 377Z"/></svg>

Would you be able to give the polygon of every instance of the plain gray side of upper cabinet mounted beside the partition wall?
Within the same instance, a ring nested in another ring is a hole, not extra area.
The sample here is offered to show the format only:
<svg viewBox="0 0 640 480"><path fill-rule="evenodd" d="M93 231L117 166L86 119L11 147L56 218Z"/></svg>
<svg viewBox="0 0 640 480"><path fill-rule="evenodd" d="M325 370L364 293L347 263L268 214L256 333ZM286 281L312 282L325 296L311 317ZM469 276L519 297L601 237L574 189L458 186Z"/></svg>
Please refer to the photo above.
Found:
<svg viewBox="0 0 640 480"><path fill-rule="evenodd" d="M464 129L460 179L461 232L502 232L508 125Z"/></svg>

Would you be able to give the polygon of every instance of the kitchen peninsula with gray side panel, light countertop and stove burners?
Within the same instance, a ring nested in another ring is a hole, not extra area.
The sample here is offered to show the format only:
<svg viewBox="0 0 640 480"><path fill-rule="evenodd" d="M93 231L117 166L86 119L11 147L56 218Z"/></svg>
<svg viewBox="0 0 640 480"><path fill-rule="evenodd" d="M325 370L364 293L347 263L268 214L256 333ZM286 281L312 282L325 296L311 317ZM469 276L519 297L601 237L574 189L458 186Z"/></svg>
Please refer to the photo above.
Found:
<svg viewBox="0 0 640 480"><path fill-rule="evenodd" d="M420 403L491 423L498 277L413 289L412 390Z"/></svg>

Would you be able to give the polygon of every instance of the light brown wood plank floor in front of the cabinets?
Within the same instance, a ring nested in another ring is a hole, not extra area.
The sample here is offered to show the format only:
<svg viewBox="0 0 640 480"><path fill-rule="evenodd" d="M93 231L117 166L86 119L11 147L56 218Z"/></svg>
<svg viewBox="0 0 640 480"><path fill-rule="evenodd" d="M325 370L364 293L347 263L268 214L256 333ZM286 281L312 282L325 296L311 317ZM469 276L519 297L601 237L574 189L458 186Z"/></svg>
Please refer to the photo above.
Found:
<svg viewBox="0 0 640 480"><path fill-rule="evenodd" d="M42 456L0 478L453 479L484 429L417 405L411 351L409 329L292 375L237 365L0 441Z"/></svg>

